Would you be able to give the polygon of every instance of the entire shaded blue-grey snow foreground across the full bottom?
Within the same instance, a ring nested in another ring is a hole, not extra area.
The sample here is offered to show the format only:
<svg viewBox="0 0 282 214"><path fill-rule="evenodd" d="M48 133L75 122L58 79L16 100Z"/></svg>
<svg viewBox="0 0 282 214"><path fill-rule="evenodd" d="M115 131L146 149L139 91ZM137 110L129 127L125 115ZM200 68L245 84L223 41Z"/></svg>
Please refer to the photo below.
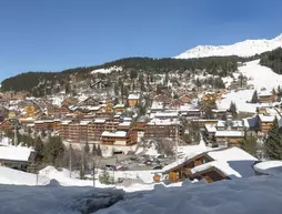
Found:
<svg viewBox="0 0 282 214"><path fill-rule="evenodd" d="M56 181L47 186L1 184L0 213L91 214L99 210L97 213L103 214L281 214L280 173L213 184L183 182L180 185L158 184L149 188L135 184L129 191L132 193L125 193L117 188L63 187Z"/></svg>

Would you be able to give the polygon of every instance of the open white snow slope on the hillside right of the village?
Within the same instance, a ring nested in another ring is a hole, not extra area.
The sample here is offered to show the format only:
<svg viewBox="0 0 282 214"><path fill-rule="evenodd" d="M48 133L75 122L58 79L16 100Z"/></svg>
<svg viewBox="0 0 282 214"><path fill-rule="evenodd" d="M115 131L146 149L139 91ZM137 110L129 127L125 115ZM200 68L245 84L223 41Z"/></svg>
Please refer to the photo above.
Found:
<svg viewBox="0 0 282 214"><path fill-rule="evenodd" d="M278 85L282 85L282 75L274 73L271 69L260 65L260 61L246 62L244 65L239 68L239 72L250 79L249 84L253 84L254 90L260 92L261 89L271 91L276 89ZM228 109L231 102L235 102L238 111L255 113L258 106L269 106L269 103L246 103L251 101L254 90L232 90L226 93L221 101L218 101L219 109Z"/></svg>

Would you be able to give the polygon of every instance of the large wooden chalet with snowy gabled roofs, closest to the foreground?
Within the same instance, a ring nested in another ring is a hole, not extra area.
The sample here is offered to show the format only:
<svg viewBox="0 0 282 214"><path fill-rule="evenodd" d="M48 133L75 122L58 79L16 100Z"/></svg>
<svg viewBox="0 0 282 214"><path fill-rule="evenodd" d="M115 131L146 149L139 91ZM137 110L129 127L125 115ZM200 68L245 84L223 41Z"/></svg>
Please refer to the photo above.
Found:
<svg viewBox="0 0 282 214"><path fill-rule="evenodd" d="M253 164L258 160L239 147L195 152L163 167L169 182L175 183L187 179L204 180L213 183L233 177L253 176Z"/></svg>

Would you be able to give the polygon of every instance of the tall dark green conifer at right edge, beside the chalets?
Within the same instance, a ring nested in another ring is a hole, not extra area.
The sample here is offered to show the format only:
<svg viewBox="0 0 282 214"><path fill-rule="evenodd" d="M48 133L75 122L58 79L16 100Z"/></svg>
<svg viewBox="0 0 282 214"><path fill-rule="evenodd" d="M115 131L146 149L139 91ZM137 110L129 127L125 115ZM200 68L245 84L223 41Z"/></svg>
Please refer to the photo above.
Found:
<svg viewBox="0 0 282 214"><path fill-rule="evenodd" d="M266 155L271 160L282 160L282 136L279 133L278 120L274 120L273 126L265 141Z"/></svg>

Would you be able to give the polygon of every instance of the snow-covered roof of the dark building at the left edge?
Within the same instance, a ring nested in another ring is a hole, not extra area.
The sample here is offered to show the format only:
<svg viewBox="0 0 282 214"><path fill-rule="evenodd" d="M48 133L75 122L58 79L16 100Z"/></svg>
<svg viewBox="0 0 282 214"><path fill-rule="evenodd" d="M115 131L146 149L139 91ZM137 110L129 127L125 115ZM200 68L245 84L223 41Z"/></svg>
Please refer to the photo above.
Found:
<svg viewBox="0 0 282 214"><path fill-rule="evenodd" d="M0 160L28 162L32 149L23 146L0 146Z"/></svg>

